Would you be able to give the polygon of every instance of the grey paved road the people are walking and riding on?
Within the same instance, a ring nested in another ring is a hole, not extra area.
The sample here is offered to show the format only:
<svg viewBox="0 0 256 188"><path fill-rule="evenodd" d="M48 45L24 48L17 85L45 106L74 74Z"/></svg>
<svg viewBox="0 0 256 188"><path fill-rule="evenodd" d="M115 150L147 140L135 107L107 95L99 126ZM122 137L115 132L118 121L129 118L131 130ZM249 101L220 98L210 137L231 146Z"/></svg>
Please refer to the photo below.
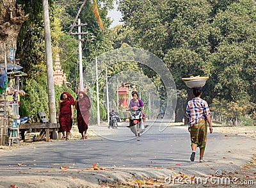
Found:
<svg viewBox="0 0 256 188"><path fill-rule="evenodd" d="M213 133L208 135L205 162L198 162L198 151L195 162L190 162L191 148L186 127L167 127L159 132L160 124L154 123L145 134L134 139L125 125L123 123L118 129L91 127L100 134L92 139L52 141L1 152L0 174L6 170L19 170L21 167L17 164L22 164L23 169L51 168L52 164L91 168L95 162L102 168L151 166L209 175L217 169L238 169L255 153L253 139Z"/></svg>

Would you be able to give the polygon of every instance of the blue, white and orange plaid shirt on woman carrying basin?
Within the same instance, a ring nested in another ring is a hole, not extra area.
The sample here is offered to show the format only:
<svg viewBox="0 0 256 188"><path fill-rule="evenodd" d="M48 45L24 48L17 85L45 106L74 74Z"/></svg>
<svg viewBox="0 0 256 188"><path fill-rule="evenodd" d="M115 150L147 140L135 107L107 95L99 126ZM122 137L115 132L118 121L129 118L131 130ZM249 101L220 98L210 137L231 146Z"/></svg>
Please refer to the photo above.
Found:
<svg viewBox="0 0 256 188"><path fill-rule="evenodd" d="M193 127L194 124L198 123L200 120L204 120L207 116L210 116L210 109L205 100L200 97L189 100L186 108L186 117L189 118L189 127Z"/></svg>

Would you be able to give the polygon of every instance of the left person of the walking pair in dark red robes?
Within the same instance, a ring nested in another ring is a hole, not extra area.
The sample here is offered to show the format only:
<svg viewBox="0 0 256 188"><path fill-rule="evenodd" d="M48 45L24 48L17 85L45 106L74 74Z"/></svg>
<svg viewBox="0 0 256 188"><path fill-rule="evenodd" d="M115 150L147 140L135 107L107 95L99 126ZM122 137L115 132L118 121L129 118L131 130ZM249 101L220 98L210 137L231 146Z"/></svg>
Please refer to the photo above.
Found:
<svg viewBox="0 0 256 188"><path fill-rule="evenodd" d="M61 139L68 139L68 134L72 128L72 120L74 118L74 104L75 100L68 92L64 92L60 95L56 119L59 119L60 132L62 132Z"/></svg>

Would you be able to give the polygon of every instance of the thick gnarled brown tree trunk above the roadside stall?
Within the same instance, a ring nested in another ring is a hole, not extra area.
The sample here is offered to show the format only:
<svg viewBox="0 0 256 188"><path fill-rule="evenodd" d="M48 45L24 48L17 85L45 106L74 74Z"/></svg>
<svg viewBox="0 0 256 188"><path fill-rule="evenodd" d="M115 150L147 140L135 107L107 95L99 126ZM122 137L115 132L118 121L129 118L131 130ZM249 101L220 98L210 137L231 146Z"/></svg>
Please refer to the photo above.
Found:
<svg viewBox="0 0 256 188"><path fill-rule="evenodd" d="M4 62L4 42L6 43L6 59L10 61L10 48L17 48L17 37L26 17L22 6L16 1L0 1L0 63Z"/></svg>

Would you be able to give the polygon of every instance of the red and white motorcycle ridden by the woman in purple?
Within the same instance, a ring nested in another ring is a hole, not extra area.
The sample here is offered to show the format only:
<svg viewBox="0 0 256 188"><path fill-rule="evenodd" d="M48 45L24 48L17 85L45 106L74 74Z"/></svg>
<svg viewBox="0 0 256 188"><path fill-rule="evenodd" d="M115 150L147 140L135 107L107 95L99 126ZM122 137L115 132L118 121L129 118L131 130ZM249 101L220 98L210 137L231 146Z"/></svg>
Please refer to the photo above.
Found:
<svg viewBox="0 0 256 188"><path fill-rule="evenodd" d="M143 125L142 120L142 109L139 107L138 109L129 109L130 117L129 117L129 126L127 126L129 129L131 129L132 133L135 134L135 136L140 136L141 133L144 132L145 127Z"/></svg>

